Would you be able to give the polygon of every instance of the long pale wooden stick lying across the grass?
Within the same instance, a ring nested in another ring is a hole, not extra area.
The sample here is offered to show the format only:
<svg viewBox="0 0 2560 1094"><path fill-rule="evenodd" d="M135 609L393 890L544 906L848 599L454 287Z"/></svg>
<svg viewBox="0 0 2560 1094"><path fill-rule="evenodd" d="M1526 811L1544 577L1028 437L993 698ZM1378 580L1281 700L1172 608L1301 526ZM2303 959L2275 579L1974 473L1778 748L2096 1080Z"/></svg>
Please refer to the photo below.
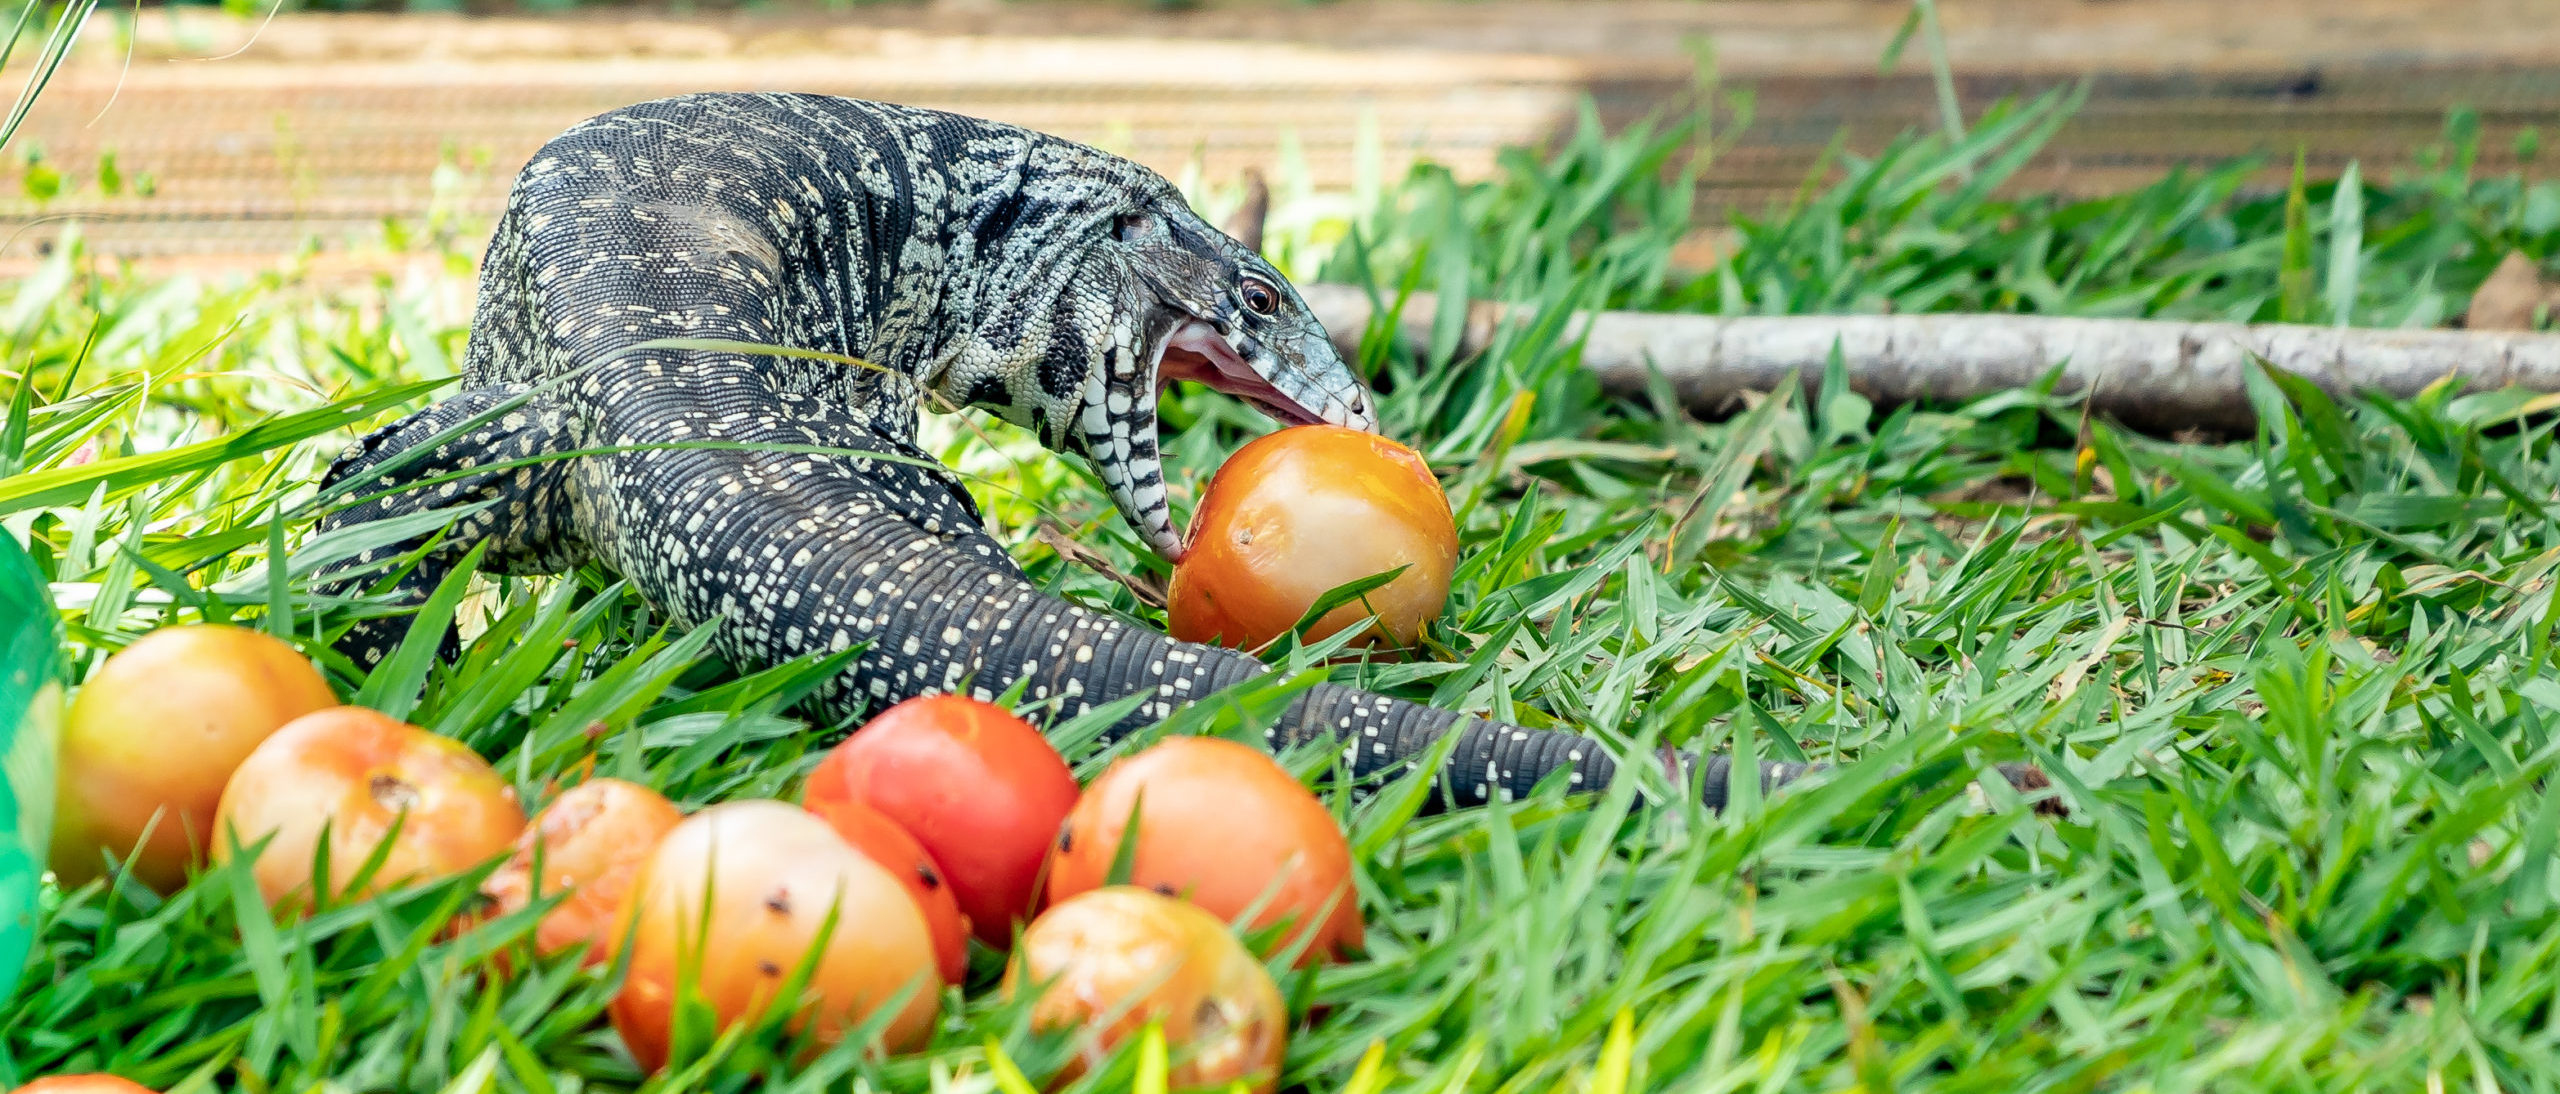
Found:
<svg viewBox="0 0 2560 1094"><path fill-rule="evenodd" d="M1303 284L1344 356L1370 328L1370 295L1349 284ZM1439 302L1413 295L1398 333L1423 343ZM1505 305L1467 307L1459 354L1492 341ZM2294 323L2081 320L2051 315L1656 315L1582 313L1569 338L1590 336L1582 364L1618 395L1646 389L1659 369L1697 412L1725 412L1741 392L1769 392L1787 371L1807 384L1838 341L1851 387L1879 402L1971 400L2038 384L2066 364L2061 392L2086 392L2094 412L2176 433L2245 433L2255 425L2245 374L2250 354L2335 397L2378 389L2409 397L2442 377L2470 389L2506 384L2560 392L2560 336L2524 331L2368 331Z"/></svg>

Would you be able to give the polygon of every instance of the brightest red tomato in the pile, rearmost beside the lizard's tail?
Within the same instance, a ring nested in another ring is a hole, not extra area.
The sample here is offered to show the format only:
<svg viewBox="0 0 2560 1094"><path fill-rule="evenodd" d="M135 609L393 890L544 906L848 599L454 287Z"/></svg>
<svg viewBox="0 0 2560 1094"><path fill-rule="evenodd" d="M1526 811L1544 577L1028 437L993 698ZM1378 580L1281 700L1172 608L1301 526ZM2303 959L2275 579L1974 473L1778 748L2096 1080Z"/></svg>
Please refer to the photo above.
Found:
<svg viewBox="0 0 2560 1094"><path fill-rule="evenodd" d="M914 833L978 940L1004 951L1032 917L1039 866L1075 807L1075 774L1050 738L1004 707L927 694L835 746L801 802L863 802Z"/></svg>

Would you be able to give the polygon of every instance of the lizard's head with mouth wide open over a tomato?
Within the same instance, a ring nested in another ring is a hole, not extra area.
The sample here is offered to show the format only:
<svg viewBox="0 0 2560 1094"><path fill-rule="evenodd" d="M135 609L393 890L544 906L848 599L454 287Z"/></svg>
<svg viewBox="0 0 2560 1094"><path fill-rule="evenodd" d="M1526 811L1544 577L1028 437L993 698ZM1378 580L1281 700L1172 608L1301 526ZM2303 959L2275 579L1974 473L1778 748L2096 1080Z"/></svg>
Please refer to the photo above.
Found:
<svg viewBox="0 0 2560 1094"><path fill-rule="evenodd" d="M1285 425L1364 433L1377 430L1377 412L1270 261L1201 220L1172 187L1134 197L1096 210L1093 238L1057 302L1055 328L1078 333L1088 354L1078 361L1073 405L1050 418L1044 438L1083 451L1139 538L1180 559L1157 451L1157 392L1188 379ZM1044 366L1070 354L1052 338Z"/></svg>

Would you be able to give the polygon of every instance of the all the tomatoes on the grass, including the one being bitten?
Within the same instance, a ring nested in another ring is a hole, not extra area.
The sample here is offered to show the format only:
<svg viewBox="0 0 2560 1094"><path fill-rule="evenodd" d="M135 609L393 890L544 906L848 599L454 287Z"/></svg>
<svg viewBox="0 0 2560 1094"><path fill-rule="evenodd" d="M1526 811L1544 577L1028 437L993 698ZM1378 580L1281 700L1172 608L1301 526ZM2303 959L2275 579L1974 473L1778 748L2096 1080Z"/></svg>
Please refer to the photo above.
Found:
<svg viewBox="0 0 2560 1094"><path fill-rule="evenodd" d="M1203 497L1172 628L1265 643L1324 589L1408 566L1316 630L1375 617L1370 641L1411 641L1439 615L1454 559L1428 469L1352 430L1275 438L1247 446ZM1331 520L1359 520L1385 546L1344 551L1318 535ZM671 1063L686 997L722 1027L781 1015L832 1045L878 1020L888 1050L919 1048L975 943L1006 956L998 992L1037 992L1037 1027L1073 1033L1060 1081L1160 1025L1178 1086L1270 1091L1288 1012L1265 963L1362 945L1336 817L1262 751L1165 738L1078 787L1037 728L957 694L888 707L817 763L796 802L686 812L596 776L527 817L468 746L338 705L292 646L184 625L92 674L59 771L51 861L67 886L123 869L166 892L246 858L269 907L302 915L502 861L474 922L540 904L538 951L627 953L609 1015L650 1071Z"/></svg>

